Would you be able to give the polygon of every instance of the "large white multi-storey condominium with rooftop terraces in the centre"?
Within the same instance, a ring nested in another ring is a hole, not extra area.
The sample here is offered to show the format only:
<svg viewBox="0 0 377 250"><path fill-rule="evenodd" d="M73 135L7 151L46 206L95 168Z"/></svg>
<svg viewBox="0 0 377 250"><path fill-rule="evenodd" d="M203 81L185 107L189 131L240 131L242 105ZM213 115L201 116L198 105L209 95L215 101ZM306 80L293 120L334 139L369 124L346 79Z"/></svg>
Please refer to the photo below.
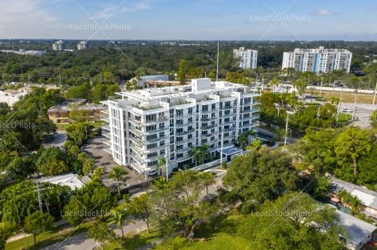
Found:
<svg viewBox="0 0 377 250"><path fill-rule="evenodd" d="M221 146L233 152L238 134L258 125L259 96L247 86L207 78L117 93L102 102L108 106L104 149L117 164L145 175L156 173L158 157L168 159L170 172L193 164L195 146L209 145L213 157Z"/></svg>

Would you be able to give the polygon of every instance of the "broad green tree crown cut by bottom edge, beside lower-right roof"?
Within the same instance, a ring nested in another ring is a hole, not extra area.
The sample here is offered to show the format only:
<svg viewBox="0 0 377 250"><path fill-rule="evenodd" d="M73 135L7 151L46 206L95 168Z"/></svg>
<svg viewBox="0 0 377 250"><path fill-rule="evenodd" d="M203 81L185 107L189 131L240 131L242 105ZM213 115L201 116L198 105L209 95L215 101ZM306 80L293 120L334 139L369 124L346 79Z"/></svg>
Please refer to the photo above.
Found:
<svg viewBox="0 0 377 250"><path fill-rule="evenodd" d="M253 241L253 249L343 249L339 235L345 230L335 210L308 194L288 193L266 201L245 221L239 234Z"/></svg>

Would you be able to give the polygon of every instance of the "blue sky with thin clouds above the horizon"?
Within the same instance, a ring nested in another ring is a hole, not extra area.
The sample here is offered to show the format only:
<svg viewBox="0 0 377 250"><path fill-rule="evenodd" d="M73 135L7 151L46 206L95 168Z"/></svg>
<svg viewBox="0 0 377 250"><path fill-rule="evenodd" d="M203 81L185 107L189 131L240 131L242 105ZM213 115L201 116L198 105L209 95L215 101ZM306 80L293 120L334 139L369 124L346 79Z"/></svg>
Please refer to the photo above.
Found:
<svg viewBox="0 0 377 250"><path fill-rule="evenodd" d="M376 0L0 3L0 38L377 40Z"/></svg>

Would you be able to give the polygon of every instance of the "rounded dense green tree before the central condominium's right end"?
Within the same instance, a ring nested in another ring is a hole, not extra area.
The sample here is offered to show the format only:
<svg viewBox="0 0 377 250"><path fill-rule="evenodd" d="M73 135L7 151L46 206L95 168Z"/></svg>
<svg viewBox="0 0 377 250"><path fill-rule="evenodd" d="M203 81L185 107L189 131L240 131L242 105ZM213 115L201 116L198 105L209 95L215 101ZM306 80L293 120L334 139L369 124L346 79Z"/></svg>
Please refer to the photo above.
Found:
<svg viewBox="0 0 377 250"><path fill-rule="evenodd" d="M242 201L242 210L249 212L264 201L273 201L300 185L292 158L280 150L262 148L235 157L223 178L224 201Z"/></svg>

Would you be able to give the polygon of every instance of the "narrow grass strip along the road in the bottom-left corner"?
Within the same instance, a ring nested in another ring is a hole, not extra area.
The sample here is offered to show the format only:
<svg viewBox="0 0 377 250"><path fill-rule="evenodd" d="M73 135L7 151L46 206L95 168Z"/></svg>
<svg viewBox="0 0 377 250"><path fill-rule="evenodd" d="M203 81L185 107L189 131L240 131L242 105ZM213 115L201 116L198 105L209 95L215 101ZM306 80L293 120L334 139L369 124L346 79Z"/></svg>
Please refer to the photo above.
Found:
<svg viewBox="0 0 377 250"><path fill-rule="evenodd" d="M34 237L31 235L20 240L15 240L14 242L9 242L6 244L6 250L42 249L43 247L50 246L50 244L64 240L72 232L73 233L71 235L77 235L78 233L87 231L93 223L93 221L86 222L82 224L80 228L59 226L58 228L54 228L53 231L48 231L37 235L35 248Z"/></svg>

